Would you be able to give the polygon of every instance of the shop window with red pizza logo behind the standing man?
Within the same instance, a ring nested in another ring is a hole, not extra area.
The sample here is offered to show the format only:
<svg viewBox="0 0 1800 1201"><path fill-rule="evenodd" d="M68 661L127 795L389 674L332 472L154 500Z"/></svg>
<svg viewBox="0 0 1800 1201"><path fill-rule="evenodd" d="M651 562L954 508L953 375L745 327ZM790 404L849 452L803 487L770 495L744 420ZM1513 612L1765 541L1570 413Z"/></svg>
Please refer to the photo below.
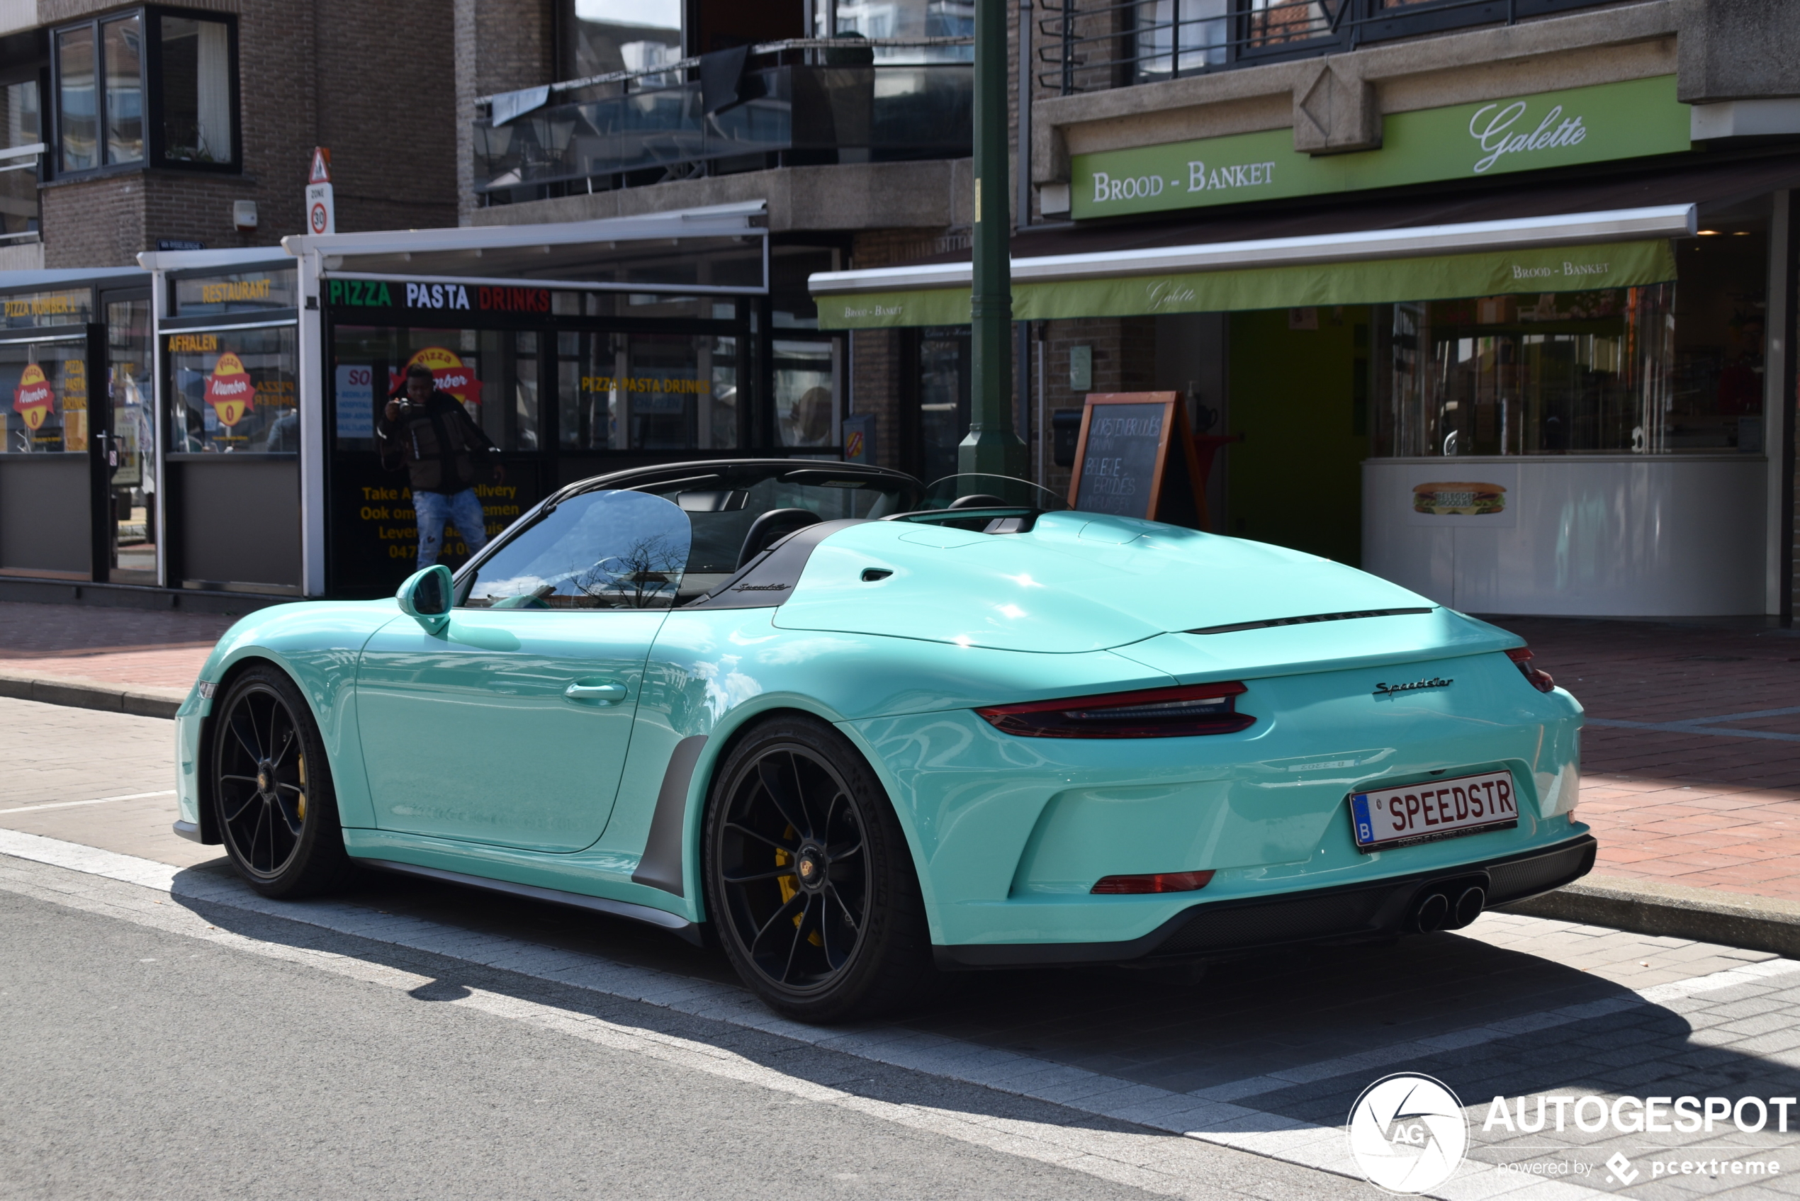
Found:
<svg viewBox="0 0 1800 1201"><path fill-rule="evenodd" d="M495 447L538 450L538 335L502 330L338 326L331 409L340 452L374 452L376 412L407 367L430 367Z"/></svg>

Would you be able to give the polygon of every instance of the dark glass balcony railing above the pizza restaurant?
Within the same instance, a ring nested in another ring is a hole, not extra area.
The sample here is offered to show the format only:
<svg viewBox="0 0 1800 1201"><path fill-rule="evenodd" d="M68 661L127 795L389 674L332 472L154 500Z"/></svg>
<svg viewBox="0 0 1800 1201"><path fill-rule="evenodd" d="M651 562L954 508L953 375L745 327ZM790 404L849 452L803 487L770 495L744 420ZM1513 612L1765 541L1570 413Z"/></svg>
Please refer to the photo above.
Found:
<svg viewBox="0 0 1800 1201"><path fill-rule="evenodd" d="M756 47L760 59L801 61L752 65L740 103L713 113L700 81L686 79L698 59L556 85L563 103L475 121L475 194L491 205L776 166L967 157L970 49L968 38Z"/></svg>

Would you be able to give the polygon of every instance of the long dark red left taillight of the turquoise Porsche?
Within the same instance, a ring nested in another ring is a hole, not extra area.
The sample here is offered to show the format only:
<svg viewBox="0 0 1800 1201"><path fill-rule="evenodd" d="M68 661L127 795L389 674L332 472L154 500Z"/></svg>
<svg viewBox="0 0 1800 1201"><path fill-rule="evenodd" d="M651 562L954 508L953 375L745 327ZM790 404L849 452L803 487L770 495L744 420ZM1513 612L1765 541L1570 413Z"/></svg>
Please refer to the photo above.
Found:
<svg viewBox="0 0 1800 1201"><path fill-rule="evenodd" d="M1229 735L1256 718L1237 711L1237 681L1031 700L976 709L995 729L1022 738L1188 738Z"/></svg>

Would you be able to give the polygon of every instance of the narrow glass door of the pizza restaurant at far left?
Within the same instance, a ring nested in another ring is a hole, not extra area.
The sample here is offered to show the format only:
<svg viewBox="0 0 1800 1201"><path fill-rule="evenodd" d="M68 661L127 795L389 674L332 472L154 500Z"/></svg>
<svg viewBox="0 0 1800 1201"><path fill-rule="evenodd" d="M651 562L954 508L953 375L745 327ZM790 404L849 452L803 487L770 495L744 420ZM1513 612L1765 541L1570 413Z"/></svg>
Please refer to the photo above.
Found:
<svg viewBox="0 0 1800 1201"><path fill-rule="evenodd" d="M108 578L157 583L157 436L149 385L149 297L106 303L108 425L99 432L106 474Z"/></svg>

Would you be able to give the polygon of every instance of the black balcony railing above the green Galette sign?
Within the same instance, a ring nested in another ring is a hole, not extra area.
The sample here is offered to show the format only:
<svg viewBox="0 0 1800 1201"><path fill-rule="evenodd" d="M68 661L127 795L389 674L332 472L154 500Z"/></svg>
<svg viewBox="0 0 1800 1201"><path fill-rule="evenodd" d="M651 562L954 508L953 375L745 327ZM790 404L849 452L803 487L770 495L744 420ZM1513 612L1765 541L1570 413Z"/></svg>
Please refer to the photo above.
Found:
<svg viewBox="0 0 1800 1201"><path fill-rule="evenodd" d="M1039 86L1102 92L1611 2L1039 0Z"/></svg>

